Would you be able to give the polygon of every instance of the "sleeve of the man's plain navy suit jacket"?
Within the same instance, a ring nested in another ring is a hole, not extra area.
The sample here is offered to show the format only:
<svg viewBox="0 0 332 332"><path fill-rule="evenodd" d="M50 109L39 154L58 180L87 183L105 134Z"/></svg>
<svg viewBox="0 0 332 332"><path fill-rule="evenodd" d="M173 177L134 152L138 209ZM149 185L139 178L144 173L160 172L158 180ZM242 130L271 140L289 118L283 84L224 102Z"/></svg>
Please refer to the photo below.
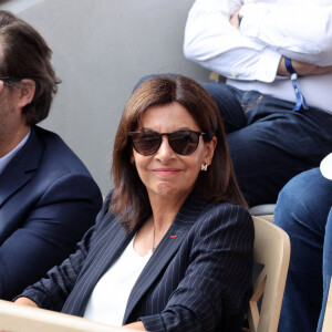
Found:
<svg viewBox="0 0 332 332"><path fill-rule="evenodd" d="M11 300L61 263L95 222L101 206L90 176L66 174L54 180L0 247L0 297Z"/></svg>

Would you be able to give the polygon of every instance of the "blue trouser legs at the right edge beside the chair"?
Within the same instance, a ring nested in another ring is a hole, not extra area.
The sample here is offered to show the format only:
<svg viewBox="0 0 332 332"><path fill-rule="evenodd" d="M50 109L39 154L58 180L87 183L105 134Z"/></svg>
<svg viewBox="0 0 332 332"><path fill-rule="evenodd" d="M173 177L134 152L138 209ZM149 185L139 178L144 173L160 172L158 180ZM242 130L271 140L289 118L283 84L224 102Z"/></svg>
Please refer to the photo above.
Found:
<svg viewBox="0 0 332 332"><path fill-rule="evenodd" d="M321 331L332 272L331 207L332 180L319 168L295 176L279 194L274 224L291 241L279 332Z"/></svg>

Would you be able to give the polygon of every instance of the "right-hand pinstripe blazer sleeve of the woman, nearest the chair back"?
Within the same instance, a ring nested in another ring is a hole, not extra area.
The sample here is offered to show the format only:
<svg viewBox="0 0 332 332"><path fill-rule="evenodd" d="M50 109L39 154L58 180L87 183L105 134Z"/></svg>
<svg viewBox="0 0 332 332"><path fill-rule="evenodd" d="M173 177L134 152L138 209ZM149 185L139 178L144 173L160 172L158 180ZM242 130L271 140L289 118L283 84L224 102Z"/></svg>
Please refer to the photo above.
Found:
<svg viewBox="0 0 332 332"><path fill-rule="evenodd" d="M251 291L253 224L239 207L214 208L193 230L185 278L160 314L142 317L147 331L240 331ZM231 322L231 323L230 323ZM236 324L234 325L229 324Z"/></svg>

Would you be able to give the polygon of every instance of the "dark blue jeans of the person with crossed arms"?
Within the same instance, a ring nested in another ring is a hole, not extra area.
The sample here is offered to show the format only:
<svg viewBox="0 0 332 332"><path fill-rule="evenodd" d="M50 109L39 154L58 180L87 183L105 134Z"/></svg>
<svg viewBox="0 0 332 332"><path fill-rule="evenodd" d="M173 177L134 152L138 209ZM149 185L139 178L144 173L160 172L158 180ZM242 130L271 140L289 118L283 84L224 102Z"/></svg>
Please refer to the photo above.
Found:
<svg viewBox="0 0 332 332"><path fill-rule="evenodd" d="M249 206L274 204L297 174L332 151L332 114L226 83L200 84L217 103L240 188Z"/></svg>

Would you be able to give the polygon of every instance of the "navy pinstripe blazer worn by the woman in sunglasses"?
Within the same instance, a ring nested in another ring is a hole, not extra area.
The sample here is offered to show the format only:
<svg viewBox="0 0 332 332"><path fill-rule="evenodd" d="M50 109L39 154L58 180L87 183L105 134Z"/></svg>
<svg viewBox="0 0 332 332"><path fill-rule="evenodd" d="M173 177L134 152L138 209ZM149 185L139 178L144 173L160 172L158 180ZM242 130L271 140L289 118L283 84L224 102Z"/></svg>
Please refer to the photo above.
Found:
<svg viewBox="0 0 332 332"><path fill-rule="evenodd" d="M90 295L133 234L125 234L106 200L77 251L21 294L41 308L83 315ZM241 331L251 292L253 225L230 204L193 197L138 277L123 323L148 331Z"/></svg>

